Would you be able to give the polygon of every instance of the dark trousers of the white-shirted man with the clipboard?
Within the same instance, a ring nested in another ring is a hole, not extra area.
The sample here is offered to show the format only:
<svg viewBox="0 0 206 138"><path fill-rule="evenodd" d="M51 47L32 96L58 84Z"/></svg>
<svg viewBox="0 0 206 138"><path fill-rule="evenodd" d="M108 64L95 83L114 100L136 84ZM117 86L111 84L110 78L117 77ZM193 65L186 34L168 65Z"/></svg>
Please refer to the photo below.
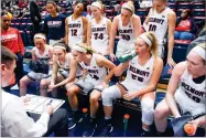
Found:
<svg viewBox="0 0 206 138"><path fill-rule="evenodd" d="M30 113L30 116L36 121L40 115ZM48 137L54 132L54 137L68 137L68 116L67 110L59 108L51 117L48 129L43 137Z"/></svg>

